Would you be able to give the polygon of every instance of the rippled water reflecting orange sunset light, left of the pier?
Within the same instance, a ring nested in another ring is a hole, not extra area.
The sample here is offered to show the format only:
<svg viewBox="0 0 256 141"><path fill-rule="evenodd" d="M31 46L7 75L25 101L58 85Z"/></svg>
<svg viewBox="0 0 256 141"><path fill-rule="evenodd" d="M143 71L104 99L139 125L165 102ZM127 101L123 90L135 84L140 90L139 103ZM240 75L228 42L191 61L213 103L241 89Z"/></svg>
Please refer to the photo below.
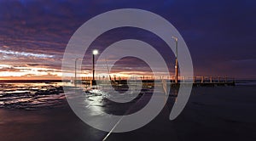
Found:
<svg viewBox="0 0 256 141"><path fill-rule="evenodd" d="M35 110L59 106L65 100L61 82L2 82L0 108Z"/></svg>

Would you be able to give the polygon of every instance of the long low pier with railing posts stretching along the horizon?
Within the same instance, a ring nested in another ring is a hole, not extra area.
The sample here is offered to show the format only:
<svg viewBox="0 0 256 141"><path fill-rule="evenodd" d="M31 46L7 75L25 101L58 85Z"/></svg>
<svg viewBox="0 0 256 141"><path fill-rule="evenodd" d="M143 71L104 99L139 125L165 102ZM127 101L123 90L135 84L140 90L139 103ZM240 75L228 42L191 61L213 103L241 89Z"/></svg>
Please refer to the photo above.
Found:
<svg viewBox="0 0 256 141"><path fill-rule="evenodd" d="M170 85L171 87L178 87L181 83L193 83L194 87L217 87L217 86L235 86L236 81L232 77L228 76L194 76L194 77L185 77L178 76L132 76L132 82L138 83L143 82L143 85L149 86L154 82L162 83L164 85ZM99 84L104 84L112 82L112 85L123 85L127 84L128 78L126 77L113 77L110 79L108 76L97 76L94 78ZM84 85L90 85L92 77L79 77L77 81L80 81Z"/></svg>

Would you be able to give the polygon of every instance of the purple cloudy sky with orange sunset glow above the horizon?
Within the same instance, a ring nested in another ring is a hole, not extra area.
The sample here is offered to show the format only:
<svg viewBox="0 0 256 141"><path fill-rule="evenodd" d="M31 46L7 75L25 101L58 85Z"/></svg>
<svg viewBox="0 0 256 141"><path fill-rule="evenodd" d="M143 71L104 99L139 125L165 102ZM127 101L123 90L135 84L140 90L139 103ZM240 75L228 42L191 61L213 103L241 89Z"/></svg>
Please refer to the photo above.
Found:
<svg viewBox="0 0 256 141"><path fill-rule="evenodd" d="M255 7L253 0L0 0L0 79L61 79L61 60L73 33L94 16L118 8L148 10L172 23L187 43L195 76L256 79ZM149 42L173 72L174 54L166 52L159 37L141 29L108 31L90 49L101 52L126 38ZM85 76L90 75L90 57L83 61ZM111 71L142 74L150 68L142 60L125 58Z"/></svg>

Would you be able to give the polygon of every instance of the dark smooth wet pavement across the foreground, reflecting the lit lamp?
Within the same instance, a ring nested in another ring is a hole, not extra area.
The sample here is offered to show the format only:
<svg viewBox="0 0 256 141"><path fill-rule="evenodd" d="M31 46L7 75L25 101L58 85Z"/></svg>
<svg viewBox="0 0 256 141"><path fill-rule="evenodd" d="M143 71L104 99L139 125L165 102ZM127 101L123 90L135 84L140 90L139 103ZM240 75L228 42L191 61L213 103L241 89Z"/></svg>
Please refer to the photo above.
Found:
<svg viewBox="0 0 256 141"><path fill-rule="evenodd" d="M86 97L86 102L94 109L92 114L122 115L141 110L151 98L150 93L152 92L148 89L148 93L143 93L141 97L128 104L116 104L104 99L108 95L102 97L90 93ZM106 133L90 127L73 113L66 99L61 99L61 106L51 107L49 104L34 110L14 108L20 105L16 103L12 108L0 109L0 137L5 141L94 141L104 138L110 141L256 140L256 113L253 112L256 110L255 87L194 87L189 103L181 115L170 121L169 116L176 100L176 93L171 91L164 109L153 121L127 133ZM61 93L56 95L61 96ZM45 101L47 104L47 101L51 100Z"/></svg>

